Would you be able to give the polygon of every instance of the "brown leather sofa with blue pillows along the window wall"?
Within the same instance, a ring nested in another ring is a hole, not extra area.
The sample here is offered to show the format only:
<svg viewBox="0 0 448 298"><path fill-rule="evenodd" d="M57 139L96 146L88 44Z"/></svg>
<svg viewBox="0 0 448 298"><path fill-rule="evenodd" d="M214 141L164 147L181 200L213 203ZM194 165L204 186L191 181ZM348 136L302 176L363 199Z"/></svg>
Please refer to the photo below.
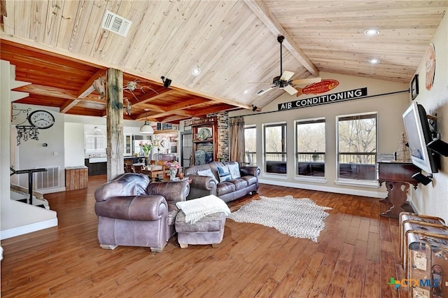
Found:
<svg viewBox="0 0 448 298"><path fill-rule="evenodd" d="M238 166L239 178L230 178L227 181L220 181L218 167ZM207 169L211 170L212 176L199 176L198 172ZM209 194L214 194L223 201L233 201L244 197L246 194L258 190L258 176L260 168L258 166L239 166L237 162L211 162L198 166L190 166L184 170L184 175L190 178L190 194L187 199L196 199Z"/></svg>

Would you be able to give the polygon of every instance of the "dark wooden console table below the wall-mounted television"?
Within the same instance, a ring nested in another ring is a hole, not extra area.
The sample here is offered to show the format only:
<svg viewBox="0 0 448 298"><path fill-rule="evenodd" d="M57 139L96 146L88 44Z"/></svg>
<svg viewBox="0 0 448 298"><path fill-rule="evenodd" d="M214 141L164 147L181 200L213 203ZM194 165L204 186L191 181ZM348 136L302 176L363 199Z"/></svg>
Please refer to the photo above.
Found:
<svg viewBox="0 0 448 298"><path fill-rule="evenodd" d="M402 206L407 201L409 184L416 188L419 183L412 178L412 175L420 171L410 162L378 162L378 182L379 185L386 183L386 199L392 204L392 207L381 215L398 218L398 215L403 211Z"/></svg>

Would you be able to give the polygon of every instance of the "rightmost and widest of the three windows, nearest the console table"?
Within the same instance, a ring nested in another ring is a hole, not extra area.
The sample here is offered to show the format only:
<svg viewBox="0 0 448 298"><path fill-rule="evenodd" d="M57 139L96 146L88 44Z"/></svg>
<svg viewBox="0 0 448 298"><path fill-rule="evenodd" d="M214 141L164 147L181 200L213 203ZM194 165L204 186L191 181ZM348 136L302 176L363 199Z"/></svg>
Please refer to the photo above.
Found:
<svg viewBox="0 0 448 298"><path fill-rule="evenodd" d="M377 114L339 116L337 123L338 177L376 180Z"/></svg>

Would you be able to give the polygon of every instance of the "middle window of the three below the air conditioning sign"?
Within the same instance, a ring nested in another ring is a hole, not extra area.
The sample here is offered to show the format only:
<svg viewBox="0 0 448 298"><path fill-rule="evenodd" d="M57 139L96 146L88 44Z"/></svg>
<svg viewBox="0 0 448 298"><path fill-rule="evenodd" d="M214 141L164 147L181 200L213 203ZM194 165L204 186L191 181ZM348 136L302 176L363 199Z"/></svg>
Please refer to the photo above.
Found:
<svg viewBox="0 0 448 298"><path fill-rule="evenodd" d="M297 175L325 177L325 119L295 122Z"/></svg>

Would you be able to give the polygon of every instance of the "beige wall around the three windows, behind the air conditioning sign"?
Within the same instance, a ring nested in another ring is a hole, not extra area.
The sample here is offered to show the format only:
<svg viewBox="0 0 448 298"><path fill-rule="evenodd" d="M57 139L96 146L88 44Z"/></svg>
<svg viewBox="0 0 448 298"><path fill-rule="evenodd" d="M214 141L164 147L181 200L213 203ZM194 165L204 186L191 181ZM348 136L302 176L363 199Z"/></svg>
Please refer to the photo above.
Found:
<svg viewBox="0 0 448 298"><path fill-rule="evenodd" d="M342 76L335 73L321 72L320 76L323 79L335 79L339 81L339 85L328 92L328 94L367 87L367 97L370 98L354 99L307 108L296 108L289 111L278 111L278 104L316 96L313 94L302 94L300 97L296 97L295 95L290 96L288 93L283 92L280 97L263 107L260 113L248 111L235 111L229 113L230 117L244 115L244 122L246 125L257 126L257 148L262 148L262 124L280 121L286 121L287 123L288 174L287 176L274 176L272 174L269 175L264 173L262 170L260 182L300 187L310 190L357 194L367 197L386 197L386 188L384 185L382 187L378 187L377 185L344 185L337 181L336 117L339 115L377 112L378 152L393 153L398 151L400 136L402 132L404 132L402 113L408 106L409 92L407 92L407 90L409 86L407 84L393 83L384 80ZM398 93L378 97L375 96L391 92ZM322 181L323 183L317 183L315 180L299 180L299 178L295 177L294 121L322 117L326 120L325 181ZM257 160L262 160L262 150L258 150Z"/></svg>

